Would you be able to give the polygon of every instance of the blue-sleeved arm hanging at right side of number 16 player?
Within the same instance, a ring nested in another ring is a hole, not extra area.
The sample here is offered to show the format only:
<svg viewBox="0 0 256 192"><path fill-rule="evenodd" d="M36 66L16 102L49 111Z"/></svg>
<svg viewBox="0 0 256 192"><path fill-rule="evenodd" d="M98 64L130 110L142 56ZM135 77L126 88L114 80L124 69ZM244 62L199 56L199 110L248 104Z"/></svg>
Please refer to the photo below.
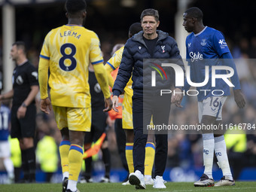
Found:
<svg viewBox="0 0 256 192"><path fill-rule="evenodd" d="M243 96L242 91L241 91L239 77L238 77L238 74L236 71L235 62L233 61L233 56L231 55L230 52L228 52L228 53L222 54L221 59L224 59L224 64L226 66L230 66L234 70L234 74L230 78L230 80L233 83L233 85L235 86L235 87L233 87L235 102L239 108L244 108L245 107L245 97Z"/></svg>

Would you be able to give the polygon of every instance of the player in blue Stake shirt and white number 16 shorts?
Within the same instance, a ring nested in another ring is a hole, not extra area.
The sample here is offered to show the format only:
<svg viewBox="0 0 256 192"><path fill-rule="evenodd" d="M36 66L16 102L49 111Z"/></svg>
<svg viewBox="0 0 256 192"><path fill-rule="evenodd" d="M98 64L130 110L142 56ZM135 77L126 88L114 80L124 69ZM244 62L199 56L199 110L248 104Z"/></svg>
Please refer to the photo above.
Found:
<svg viewBox="0 0 256 192"><path fill-rule="evenodd" d="M198 86L197 99L200 123L203 125L218 125L222 120L222 107L227 96L230 95L230 87L233 87L236 105L239 108L245 106L236 66L224 35L216 29L203 25L203 12L199 8L187 9L183 14L183 20L185 30L191 32L186 39L190 77L187 77L184 90L187 93L191 85ZM215 78L215 81L212 82L212 78ZM227 78L230 78L231 82ZM190 82L188 82L189 80ZM194 186L207 187L235 184L230 172L223 134L213 133L213 130L202 130L202 132L205 170L200 180L194 183ZM218 159L218 165L223 172L221 181L216 184L212 178L214 151Z"/></svg>

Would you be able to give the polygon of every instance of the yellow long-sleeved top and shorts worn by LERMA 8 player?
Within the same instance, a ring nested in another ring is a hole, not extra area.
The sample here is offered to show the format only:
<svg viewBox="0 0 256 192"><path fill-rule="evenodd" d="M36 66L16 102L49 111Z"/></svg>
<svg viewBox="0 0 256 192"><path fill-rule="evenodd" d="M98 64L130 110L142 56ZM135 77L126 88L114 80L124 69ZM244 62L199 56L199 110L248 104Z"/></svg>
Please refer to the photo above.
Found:
<svg viewBox="0 0 256 192"><path fill-rule="evenodd" d="M69 130L90 131L90 62L95 71L105 73L99 38L95 32L79 25L64 25L52 29L45 37L39 62L41 99L48 97L47 77L50 69L50 99L59 130L69 127ZM97 79L105 98L109 98L110 93L106 88L108 79ZM68 110L59 107L67 107ZM84 118L81 118L81 114Z"/></svg>

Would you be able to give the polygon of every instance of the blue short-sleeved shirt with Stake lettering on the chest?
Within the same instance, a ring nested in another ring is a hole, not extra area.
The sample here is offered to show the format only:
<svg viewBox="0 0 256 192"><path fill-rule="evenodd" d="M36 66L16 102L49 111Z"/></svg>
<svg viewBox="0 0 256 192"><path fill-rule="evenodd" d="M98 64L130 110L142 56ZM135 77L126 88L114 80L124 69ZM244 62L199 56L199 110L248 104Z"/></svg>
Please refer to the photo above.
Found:
<svg viewBox="0 0 256 192"><path fill-rule="evenodd" d="M222 80L216 79L216 87L212 87L212 66L222 65L220 58L224 53L230 53L224 35L216 29L207 27L202 32L192 32L186 39L187 62L190 66L190 79L194 83L201 83L206 78L206 66L209 66L209 80L203 87L197 87L198 101L203 101L212 95L212 90L222 90L223 96L230 95L230 87ZM224 70L216 70L216 74L227 74ZM202 90L208 90L207 92ZM215 94L222 92L215 91Z"/></svg>

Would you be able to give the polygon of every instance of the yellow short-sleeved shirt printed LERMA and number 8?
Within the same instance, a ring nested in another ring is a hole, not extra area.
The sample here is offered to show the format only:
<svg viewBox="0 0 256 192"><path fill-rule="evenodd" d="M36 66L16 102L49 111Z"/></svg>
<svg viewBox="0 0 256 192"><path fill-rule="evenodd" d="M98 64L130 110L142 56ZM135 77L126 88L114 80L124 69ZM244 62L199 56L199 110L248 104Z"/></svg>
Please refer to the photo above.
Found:
<svg viewBox="0 0 256 192"><path fill-rule="evenodd" d="M40 57L50 61L48 82L53 105L90 107L88 66L103 62L99 46L96 33L83 26L64 25L47 34Z"/></svg>

